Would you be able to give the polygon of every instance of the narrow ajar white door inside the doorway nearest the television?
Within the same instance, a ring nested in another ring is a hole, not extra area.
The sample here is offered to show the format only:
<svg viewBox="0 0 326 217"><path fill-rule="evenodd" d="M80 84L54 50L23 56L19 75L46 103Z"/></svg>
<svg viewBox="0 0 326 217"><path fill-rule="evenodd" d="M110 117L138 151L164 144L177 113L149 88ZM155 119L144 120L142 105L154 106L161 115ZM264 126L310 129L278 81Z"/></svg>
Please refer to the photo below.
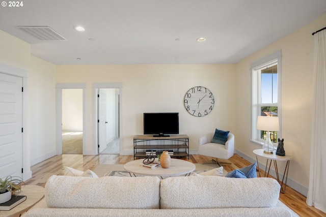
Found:
<svg viewBox="0 0 326 217"><path fill-rule="evenodd" d="M106 148L106 90L99 89L98 98L98 152Z"/></svg>

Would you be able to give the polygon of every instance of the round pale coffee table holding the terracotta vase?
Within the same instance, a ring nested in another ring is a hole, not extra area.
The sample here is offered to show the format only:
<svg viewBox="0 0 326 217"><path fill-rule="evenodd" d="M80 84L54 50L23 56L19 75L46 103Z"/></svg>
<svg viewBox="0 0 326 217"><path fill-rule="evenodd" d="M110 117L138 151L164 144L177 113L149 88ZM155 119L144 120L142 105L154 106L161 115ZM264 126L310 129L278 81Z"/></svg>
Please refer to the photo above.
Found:
<svg viewBox="0 0 326 217"><path fill-rule="evenodd" d="M162 168L161 166L158 166L155 169L150 169L140 166L140 164L143 163L143 160L144 159L130 161L126 163L123 167L129 173L161 177L187 175L196 169L195 164L174 158L171 159L171 165L169 168Z"/></svg>

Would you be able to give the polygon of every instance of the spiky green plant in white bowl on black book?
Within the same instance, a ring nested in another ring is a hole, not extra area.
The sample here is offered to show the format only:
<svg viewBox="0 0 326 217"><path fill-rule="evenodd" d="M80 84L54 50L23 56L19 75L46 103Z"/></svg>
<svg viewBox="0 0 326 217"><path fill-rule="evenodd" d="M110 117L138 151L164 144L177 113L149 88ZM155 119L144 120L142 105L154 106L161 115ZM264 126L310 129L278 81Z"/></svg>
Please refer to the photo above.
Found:
<svg viewBox="0 0 326 217"><path fill-rule="evenodd" d="M23 180L19 176L7 176L0 178L0 203L5 203L11 199L11 195L20 193Z"/></svg>

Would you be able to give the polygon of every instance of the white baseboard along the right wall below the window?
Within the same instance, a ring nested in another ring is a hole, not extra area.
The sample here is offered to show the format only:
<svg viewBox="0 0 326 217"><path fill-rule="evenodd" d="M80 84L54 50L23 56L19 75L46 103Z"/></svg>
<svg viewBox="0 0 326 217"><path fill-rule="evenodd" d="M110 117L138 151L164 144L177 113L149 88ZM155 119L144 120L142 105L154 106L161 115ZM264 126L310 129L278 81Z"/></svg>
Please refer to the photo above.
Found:
<svg viewBox="0 0 326 217"><path fill-rule="evenodd" d="M239 151L239 150L235 150L235 153L238 154L238 156L240 156L241 158L249 161L250 163L254 164L256 162L256 159L253 159L251 157L249 157L247 154L244 154L243 152ZM262 164L260 162L258 162L258 166L260 169L263 169L266 167L265 164ZM276 177L276 171L275 168L270 170L271 172L269 172L270 175ZM283 174L281 174L279 172L279 177L282 180L283 178ZM296 181L292 180L291 178L287 178L287 183L286 183L289 187L291 187L292 189L294 189L295 191L297 191L298 193L304 195L307 197L308 194L308 188L304 187L302 184L297 183Z"/></svg>

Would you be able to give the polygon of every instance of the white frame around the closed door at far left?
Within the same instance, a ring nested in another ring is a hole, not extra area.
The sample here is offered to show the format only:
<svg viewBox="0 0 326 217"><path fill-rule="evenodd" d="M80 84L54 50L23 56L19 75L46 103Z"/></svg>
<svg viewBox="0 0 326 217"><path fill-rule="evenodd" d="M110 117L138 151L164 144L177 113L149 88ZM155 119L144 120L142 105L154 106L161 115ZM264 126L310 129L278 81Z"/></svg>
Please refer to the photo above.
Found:
<svg viewBox="0 0 326 217"><path fill-rule="evenodd" d="M22 133L22 179L27 180L32 178L31 171L31 147L30 143L27 142L27 99L28 99L28 86L27 86L27 71L24 69L19 69L13 66L8 66L0 63L0 72L3 74L21 77L22 78L22 128L24 129Z"/></svg>

